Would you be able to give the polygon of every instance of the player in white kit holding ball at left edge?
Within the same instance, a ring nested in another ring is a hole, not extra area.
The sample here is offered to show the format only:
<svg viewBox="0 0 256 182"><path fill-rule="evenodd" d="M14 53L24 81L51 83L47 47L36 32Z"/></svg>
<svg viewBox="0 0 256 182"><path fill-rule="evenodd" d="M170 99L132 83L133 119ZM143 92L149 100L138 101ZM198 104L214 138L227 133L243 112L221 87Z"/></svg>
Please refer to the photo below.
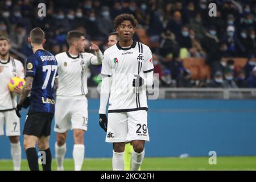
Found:
<svg viewBox="0 0 256 182"><path fill-rule="evenodd" d="M10 42L4 36L0 37L0 135L4 135L4 125L6 136L11 143L11 157L13 158L14 170L20 170L21 148L19 142L20 122L15 113L17 105L16 95L21 93L21 89L16 86L14 92L8 88L12 77L24 78L24 68L19 60L13 59L9 55Z"/></svg>

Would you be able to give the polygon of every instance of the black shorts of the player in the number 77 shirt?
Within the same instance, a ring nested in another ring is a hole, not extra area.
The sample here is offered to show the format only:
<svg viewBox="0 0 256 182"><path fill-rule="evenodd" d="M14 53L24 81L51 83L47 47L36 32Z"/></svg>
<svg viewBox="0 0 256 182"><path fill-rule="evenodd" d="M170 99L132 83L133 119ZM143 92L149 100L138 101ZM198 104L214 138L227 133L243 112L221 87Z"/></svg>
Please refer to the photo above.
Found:
<svg viewBox="0 0 256 182"><path fill-rule="evenodd" d="M53 113L28 113L23 135L47 137L51 135Z"/></svg>

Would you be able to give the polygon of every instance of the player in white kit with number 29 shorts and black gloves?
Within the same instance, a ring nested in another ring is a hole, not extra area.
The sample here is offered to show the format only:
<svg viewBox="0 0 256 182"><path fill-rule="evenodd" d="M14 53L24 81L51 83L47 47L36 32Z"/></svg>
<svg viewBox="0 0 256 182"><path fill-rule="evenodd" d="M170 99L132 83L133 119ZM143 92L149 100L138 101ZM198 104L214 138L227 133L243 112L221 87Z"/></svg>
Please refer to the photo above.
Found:
<svg viewBox="0 0 256 182"><path fill-rule="evenodd" d="M124 169L126 141L132 141L134 149L131 170L138 170L149 141L146 88L154 83L154 65L150 48L133 40L137 23L131 14L114 19L120 40L106 49L102 61L100 126L107 132L106 142L113 143L113 170Z"/></svg>

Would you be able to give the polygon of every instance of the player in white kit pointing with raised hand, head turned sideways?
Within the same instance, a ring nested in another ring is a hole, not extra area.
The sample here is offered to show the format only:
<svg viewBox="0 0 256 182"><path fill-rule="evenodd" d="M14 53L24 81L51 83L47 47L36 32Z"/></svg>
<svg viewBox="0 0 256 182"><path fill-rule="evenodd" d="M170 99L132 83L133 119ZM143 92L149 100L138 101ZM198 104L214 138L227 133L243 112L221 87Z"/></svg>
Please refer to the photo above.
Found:
<svg viewBox="0 0 256 182"><path fill-rule="evenodd" d="M87 130L88 110L86 69L90 64L102 63L103 55L96 44L92 43L90 49L95 51L86 53L86 42L84 33L80 31L69 31L67 34L69 44L68 52L57 54L59 73L59 88L56 92L55 127L57 142L55 143L55 158L57 170L64 170L64 155L67 151L67 131L73 130L74 147L73 159L75 170L80 171L84 162L84 133Z"/></svg>

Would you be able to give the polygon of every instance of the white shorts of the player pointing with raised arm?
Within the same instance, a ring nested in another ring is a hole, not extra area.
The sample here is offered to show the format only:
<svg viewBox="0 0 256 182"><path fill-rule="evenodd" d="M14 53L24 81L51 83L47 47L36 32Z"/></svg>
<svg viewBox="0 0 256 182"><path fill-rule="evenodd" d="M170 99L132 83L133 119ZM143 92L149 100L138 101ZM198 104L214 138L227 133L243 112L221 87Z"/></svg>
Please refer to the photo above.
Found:
<svg viewBox="0 0 256 182"><path fill-rule="evenodd" d="M57 96L55 105L54 131L65 133L68 130L87 130L88 101L85 96Z"/></svg>

